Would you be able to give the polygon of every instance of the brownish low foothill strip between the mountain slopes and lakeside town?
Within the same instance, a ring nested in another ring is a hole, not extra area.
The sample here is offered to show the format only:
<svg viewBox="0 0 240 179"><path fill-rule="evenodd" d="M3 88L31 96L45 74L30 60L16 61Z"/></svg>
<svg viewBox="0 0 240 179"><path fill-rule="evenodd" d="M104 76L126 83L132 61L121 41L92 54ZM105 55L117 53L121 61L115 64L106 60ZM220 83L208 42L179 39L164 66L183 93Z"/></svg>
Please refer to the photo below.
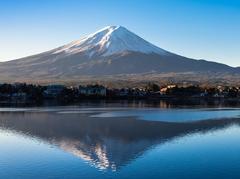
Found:
<svg viewBox="0 0 240 179"><path fill-rule="evenodd" d="M74 76L74 77L4 77L0 76L1 83L26 82L33 84L64 84L64 85L87 85L102 84L113 88L144 87L149 82L160 86L168 84L200 85L200 86L240 86L240 74L238 73L148 73L129 75L103 75L103 76Z"/></svg>

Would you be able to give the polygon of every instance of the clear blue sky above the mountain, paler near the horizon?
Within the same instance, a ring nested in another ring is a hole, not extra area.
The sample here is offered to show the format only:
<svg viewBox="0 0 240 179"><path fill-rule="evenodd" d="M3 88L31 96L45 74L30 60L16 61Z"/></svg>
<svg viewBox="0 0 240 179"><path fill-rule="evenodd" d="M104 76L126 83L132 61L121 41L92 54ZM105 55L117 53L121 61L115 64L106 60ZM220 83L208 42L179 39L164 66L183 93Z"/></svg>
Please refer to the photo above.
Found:
<svg viewBox="0 0 240 179"><path fill-rule="evenodd" d="M240 0L0 0L0 61L108 25L180 55L240 66Z"/></svg>

